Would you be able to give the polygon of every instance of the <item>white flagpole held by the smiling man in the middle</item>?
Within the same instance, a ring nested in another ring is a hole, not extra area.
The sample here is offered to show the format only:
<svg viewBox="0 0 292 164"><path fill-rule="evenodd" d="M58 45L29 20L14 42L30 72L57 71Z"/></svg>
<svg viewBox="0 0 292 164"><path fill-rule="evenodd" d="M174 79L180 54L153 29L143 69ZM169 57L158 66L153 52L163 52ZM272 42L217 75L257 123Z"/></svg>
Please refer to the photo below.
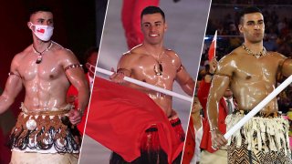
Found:
<svg viewBox="0 0 292 164"><path fill-rule="evenodd" d="M96 71L99 72L99 73L108 75L108 76L111 76L113 74L113 72L111 72L109 70L106 70L106 69L103 69L101 67L97 67ZM172 96L172 97L178 97L178 98L183 99L183 100L188 101L188 102L193 102L193 98L192 97L186 97L186 96L180 95L178 93L172 92L170 90L164 89L162 87L156 87L156 86L150 85L148 83L142 82L140 80L136 80L134 78L124 77L124 80L128 81L130 83L136 84L138 86L141 86L141 87L147 87L147 88L150 88L150 89L155 90L157 92L161 92L161 93L163 93L165 95L169 95L169 96Z"/></svg>

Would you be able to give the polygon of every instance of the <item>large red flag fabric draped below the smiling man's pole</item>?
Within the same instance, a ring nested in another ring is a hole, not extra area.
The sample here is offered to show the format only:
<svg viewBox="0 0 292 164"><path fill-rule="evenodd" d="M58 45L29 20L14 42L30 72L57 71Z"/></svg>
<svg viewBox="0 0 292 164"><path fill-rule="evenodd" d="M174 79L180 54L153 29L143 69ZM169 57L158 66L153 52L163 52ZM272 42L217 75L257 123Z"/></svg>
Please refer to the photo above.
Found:
<svg viewBox="0 0 292 164"><path fill-rule="evenodd" d="M85 133L132 161L141 156L141 136L156 125L169 163L183 150L168 118L146 94L96 77Z"/></svg>

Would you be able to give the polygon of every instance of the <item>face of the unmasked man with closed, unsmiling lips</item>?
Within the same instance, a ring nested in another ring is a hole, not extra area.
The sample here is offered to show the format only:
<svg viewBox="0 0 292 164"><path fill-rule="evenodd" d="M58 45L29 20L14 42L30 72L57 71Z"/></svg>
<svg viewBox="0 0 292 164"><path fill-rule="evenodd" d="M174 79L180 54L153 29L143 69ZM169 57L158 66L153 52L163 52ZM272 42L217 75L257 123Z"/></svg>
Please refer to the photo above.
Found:
<svg viewBox="0 0 292 164"><path fill-rule="evenodd" d="M245 40L251 43L263 41L265 33L264 16L260 13L246 14L241 24L238 26L239 31L244 34Z"/></svg>

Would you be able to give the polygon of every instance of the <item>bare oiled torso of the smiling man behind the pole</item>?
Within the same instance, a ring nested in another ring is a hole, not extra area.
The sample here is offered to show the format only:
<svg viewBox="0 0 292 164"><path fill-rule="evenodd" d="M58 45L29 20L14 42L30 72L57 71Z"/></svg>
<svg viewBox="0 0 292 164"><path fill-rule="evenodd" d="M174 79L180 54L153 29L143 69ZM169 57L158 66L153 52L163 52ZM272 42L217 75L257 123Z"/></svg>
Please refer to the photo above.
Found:
<svg viewBox="0 0 292 164"><path fill-rule="evenodd" d="M147 52L143 52L140 49L134 49L126 56L131 58L131 62L129 63L129 65L131 65L129 66L131 71L130 77L156 87L172 90L173 81L176 77L176 71L178 67L180 67L178 66L178 61L175 58L176 55L174 56L174 52L172 50L165 49L159 59L154 58L153 56L147 54ZM162 74L158 75L157 69L160 69L160 64L162 65ZM130 87L137 88L137 86L132 84L130 84ZM148 94L164 110L164 112L166 112L168 117L171 115L172 97L151 89L145 89L142 87L138 88Z"/></svg>

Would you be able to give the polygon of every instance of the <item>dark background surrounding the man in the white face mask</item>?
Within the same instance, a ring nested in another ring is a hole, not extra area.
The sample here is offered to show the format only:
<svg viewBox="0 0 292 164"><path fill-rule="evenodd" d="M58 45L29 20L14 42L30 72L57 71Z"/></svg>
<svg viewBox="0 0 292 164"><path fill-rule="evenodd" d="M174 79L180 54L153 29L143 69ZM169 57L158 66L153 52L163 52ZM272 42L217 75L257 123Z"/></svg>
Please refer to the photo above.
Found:
<svg viewBox="0 0 292 164"><path fill-rule="evenodd" d="M13 57L32 44L32 32L26 26L29 9L35 5L47 5L54 14L52 40L73 51L80 63L90 46L99 46L107 0L9 0L0 1L0 88L5 82ZM5 146L11 128L20 112L23 92L14 105L0 116L0 164L10 161L10 149Z"/></svg>

